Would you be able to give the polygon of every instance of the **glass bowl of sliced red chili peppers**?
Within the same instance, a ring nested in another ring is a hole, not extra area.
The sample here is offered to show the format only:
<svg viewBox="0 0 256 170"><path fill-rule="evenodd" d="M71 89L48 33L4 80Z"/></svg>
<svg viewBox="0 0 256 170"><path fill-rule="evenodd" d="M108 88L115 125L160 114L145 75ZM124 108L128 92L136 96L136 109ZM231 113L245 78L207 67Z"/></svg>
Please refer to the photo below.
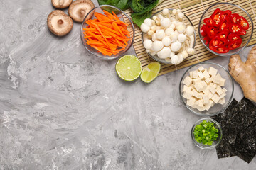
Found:
<svg viewBox="0 0 256 170"><path fill-rule="evenodd" d="M250 42L253 22L245 9L235 4L213 4L201 16L198 26L203 45L215 55L230 56Z"/></svg>

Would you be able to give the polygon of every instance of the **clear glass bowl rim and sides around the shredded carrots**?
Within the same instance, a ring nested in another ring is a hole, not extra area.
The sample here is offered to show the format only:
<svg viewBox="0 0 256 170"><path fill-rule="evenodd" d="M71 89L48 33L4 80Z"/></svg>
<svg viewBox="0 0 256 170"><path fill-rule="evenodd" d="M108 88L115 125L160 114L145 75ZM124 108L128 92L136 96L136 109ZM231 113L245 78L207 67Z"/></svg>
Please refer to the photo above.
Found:
<svg viewBox="0 0 256 170"><path fill-rule="evenodd" d="M95 16L93 15L93 13L97 12L97 13L103 13L103 10L105 11L114 11L114 13L117 14L117 16L122 20L122 21L125 21L126 23L128 23L128 26L127 26L127 30L129 31L130 33L130 40L127 42L128 45L125 47L124 50L120 51L119 54L117 55L111 55L111 56L105 56L105 55L102 55L102 53L100 52L97 52L97 50L95 50L94 48L90 47L90 45L87 45L86 43L86 40L84 38L84 35L83 35L83 28L86 28L88 25L87 23L85 23L87 20L89 19L94 19ZM122 16L122 14L124 14L124 17ZM102 5L102 6L97 6L95 8L93 8L89 13L87 13L87 15L85 16L84 20L82 21L82 26L81 26L81 30L80 30L80 37L81 37L81 40L82 40L82 45L85 46L85 49L87 51L89 51L92 55L95 55L103 60L112 60L112 59L115 59L115 58L118 58L118 57L121 57L124 52L126 52L129 47L132 46L132 43L134 42L134 34L135 34L135 31L134 31L134 25L132 23L132 20L129 18L129 16L127 16L126 13L124 13L124 11L122 11L121 9L115 7L115 6L110 6L110 5Z"/></svg>

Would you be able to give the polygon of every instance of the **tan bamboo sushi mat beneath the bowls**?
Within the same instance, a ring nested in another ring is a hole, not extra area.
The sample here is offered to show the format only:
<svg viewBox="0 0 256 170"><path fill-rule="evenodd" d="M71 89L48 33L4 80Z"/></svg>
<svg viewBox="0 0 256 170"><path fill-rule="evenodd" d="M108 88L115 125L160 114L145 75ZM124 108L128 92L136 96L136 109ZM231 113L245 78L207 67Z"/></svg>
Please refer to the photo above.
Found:
<svg viewBox="0 0 256 170"><path fill-rule="evenodd" d="M159 75L166 74L169 72L174 72L177 69L182 69L184 67L191 66L193 64L196 64L198 62L203 62L206 60L210 60L214 57L217 57L217 55L213 55L213 53L209 52L206 47L203 46L199 36L198 36L198 23L199 20L203 14L203 12L212 4L215 4L217 2L228 2L230 4L236 4L247 11L247 13L250 14L253 25L256 26L256 1L255 0L233 0L233 1L220 1L220 0L166 0L159 6L157 6L153 13L156 13L156 11L160 11L163 8L180 8L183 13L188 16L188 18L193 23L193 26L195 27L196 31L196 55L191 55L186 58L181 64L173 65L173 64L161 64L161 71L159 72ZM127 13L128 16L131 16L132 11L130 9L127 9L124 11ZM124 19L124 21L127 21L127 18ZM139 29L138 26L134 24L135 28L135 38L134 38L134 50L136 52L137 57L142 62L142 67L146 67L150 62L153 62L154 60L149 57L149 55L146 54L146 51L144 50L144 47L142 45L142 31ZM255 45L256 44L256 34L252 35L252 39L250 40L249 45Z"/></svg>

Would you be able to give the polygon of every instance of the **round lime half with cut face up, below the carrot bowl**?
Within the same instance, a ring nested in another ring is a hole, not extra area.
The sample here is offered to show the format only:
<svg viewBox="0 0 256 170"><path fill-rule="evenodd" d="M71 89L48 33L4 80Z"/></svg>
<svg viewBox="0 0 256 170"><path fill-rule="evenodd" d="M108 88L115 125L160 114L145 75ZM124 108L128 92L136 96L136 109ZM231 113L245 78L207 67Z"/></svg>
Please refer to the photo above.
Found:
<svg viewBox="0 0 256 170"><path fill-rule="evenodd" d="M116 64L118 76L125 81L137 79L142 72L142 63L134 55L124 55Z"/></svg>

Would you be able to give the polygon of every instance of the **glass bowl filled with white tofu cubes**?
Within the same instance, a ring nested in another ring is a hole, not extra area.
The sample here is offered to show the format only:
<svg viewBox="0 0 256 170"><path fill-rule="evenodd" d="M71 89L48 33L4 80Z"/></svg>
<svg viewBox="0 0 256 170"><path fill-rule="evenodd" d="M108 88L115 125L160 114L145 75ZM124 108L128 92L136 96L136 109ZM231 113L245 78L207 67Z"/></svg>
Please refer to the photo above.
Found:
<svg viewBox="0 0 256 170"><path fill-rule="evenodd" d="M220 64L194 64L181 77L181 100L196 115L218 115L228 108L234 92L234 82L228 70Z"/></svg>

